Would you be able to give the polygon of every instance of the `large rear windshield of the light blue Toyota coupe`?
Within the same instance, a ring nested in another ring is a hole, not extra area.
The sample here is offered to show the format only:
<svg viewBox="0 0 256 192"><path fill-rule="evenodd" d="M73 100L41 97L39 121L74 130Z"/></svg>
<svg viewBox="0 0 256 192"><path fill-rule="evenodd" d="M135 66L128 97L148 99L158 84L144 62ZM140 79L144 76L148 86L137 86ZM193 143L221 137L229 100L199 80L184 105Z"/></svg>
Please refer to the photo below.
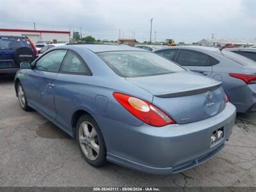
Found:
<svg viewBox="0 0 256 192"><path fill-rule="evenodd" d="M157 76L185 70L152 52L116 51L100 52L98 55L122 77Z"/></svg>

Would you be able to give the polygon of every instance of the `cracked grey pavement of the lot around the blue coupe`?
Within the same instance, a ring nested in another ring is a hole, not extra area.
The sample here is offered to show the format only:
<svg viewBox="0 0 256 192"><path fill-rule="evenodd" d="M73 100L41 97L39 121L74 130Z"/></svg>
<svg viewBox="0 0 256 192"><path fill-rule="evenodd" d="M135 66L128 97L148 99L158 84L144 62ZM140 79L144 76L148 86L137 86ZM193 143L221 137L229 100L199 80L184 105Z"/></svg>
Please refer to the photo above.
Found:
<svg viewBox="0 0 256 192"><path fill-rule="evenodd" d="M0 186L256 186L256 113L237 114L224 150L175 175L116 164L93 168L76 141L35 111L25 112L12 78L0 79Z"/></svg>

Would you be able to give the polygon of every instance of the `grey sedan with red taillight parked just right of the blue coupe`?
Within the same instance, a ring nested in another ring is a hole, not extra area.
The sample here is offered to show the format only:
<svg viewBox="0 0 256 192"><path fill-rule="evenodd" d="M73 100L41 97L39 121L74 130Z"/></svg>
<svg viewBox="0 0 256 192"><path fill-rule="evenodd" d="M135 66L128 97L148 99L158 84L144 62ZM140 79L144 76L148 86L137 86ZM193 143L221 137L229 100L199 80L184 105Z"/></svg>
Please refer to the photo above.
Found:
<svg viewBox="0 0 256 192"><path fill-rule="evenodd" d="M256 111L256 63L214 47L177 46L156 51L179 65L222 81L230 101L241 113Z"/></svg>

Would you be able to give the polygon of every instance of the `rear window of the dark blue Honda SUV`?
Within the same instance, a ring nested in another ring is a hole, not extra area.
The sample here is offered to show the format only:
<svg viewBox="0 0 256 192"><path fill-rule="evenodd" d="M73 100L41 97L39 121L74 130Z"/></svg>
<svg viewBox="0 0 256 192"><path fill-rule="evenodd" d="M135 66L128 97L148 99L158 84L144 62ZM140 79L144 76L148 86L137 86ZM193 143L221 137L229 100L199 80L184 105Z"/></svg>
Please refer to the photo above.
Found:
<svg viewBox="0 0 256 192"><path fill-rule="evenodd" d="M0 50L15 50L20 47L28 47L32 49L32 46L28 38L26 38L25 36L0 36Z"/></svg>

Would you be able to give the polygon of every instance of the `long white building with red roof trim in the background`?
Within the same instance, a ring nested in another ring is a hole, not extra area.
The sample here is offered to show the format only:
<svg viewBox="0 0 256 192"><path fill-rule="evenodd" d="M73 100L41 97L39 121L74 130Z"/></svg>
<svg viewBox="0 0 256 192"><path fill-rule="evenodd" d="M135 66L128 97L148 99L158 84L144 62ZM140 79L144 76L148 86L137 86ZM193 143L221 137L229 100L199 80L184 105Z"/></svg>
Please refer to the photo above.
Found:
<svg viewBox="0 0 256 192"><path fill-rule="evenodd" d="M45 31L28 29L1 29L0 35L26 35L35 44L38 41L69 42L70 31Z"/></svg>

